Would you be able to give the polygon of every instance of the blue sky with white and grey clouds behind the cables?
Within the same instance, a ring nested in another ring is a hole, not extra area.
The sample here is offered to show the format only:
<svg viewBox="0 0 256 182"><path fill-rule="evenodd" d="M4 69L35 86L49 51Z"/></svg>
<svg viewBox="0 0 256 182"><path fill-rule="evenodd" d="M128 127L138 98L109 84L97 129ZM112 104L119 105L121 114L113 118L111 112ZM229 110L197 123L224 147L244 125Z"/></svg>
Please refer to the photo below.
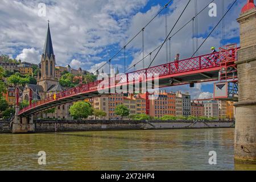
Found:
<svg viewBox="0 0 256 182"><path fill-rule="evenodd" d="M212 0L197 0L198 11ZM224 0L224 9L228 10L234 0ZM70 64L73 68L94 72L115 55L147 22L154 17L168 0L2 0L0 3L0 55L10 55L31 63L39 63L50 21L53 49L57 65ZM145 55L154 50L166 36L165 16L167 15L168 32L188 0L172 1L167 9L157 16L144 31ZM225 39L222 39L222 23L200 48L199 54L209 53L212 46L239 44L239 16L245 0L238 0L225 17ZM46 14L42 4L46 5ZM199 45L217 24L222 16L222 0L215 0L217 16L208 15L209 8L198 16ZM181 16L173 32L188 22L195 15L195 0ZM172 35L172 34L171 34ZM171 41L171 58L180 53L181 59L192 56L192 23L189 23ZM142 35L139 34L126 48L127 67L142 59ZM154 56L154 53L153 55ZM150 58L145 60L149 64ZM166 63L166 47L160 51L152 65ZM114 67L124 71L123 52L112 61ZM135 69L142 68L142 64ZM106 65L105 72L109 67ZM134 69L131 69L133 71ZM169 90L189 91L193 98L211 97L213 85L196 84L195 88L177 86Z"/></svg>

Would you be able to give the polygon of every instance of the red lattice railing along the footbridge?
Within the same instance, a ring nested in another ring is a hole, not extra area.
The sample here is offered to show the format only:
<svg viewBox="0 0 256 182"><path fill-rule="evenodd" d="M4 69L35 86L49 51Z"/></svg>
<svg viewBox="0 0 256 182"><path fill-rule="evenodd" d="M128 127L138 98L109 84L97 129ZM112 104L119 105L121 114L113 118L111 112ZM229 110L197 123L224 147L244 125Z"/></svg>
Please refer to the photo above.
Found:
<svg viewBox="0 0 256 182"><path fill-rule="evenodd" d="M138 71L126 73L125 75L115 76L109 78L109 80L104 80L104 82L110 82L110 86L114 86L117 84L117 80L119 84L123 82L131 82L141 79L141 75L146 75L146 77L152 77L155 75L160 76L167 76L167 75L174 75L176 73L184 73L188 71L195 71L199 69L207 69L207 68L214 68L220 67L221 61L223 61L223 57L233 57L237 55L237 49L229 49L229 51L221 51L216 53L209 53L207 55L192 57L189 59L184 59L180 61L174 61L167 64L157 65L154 67L141 69ZM52 102L55 100L60 100L61 98L71 97L79 93L90 92L91 90L97 90L98 85L102 82L102 80L98 80L95 82L90 82L89 84L80 84L75 88L65 90L64 92L60 92L56 94L56 98L50 96L44 100L40 100L38 102L33 103L32 105L25 107L24 109L20 110L19 114L24 113L27 110L30 110L36 106L44 105L48 102Z"/></svg>

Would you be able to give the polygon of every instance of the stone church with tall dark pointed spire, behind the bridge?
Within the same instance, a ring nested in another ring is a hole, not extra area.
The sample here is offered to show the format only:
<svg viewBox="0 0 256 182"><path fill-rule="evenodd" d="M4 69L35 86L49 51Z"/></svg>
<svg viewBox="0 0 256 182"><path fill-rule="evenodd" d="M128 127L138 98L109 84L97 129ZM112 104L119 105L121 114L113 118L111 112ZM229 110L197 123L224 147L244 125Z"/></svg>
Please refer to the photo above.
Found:
<svg viewBox="0 0 256 182"><path fill-rule="evenodd" d="M32 90L32 100L40 100L53 94L63 92L65 88L59 84L58 78L55 75L55 55L53 52L51 31L48 23L48 30L46 35L46 42L44 43L43 54L41 57L41 71L38 72L38 82L36 85L26 84L22 99L29 100L30 89ZM56 119L70 119L69 107L72 104L65 104L56 107L55 113L38 113L35 118L56 118Z"/></svg>

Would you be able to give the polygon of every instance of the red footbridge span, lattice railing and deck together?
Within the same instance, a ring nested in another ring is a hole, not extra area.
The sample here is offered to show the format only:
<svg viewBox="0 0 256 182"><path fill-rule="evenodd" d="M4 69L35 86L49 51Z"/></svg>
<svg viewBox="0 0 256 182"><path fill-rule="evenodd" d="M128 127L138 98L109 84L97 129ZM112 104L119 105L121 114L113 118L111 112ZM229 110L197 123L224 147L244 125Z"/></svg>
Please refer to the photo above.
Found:
<svg viewBox="0 0 256 182"><path fill-rule="evenodd" d="M189 84L191 82L205 82L216 81L219 78L219 72L223 65L234 65L237 59L237 48L230 48L226 51L211 53L208 55L193 57L191 59L180 60L168 64L162 64L155 67L141 69L139 71L126 73L125 75L110 78L113 84L108 88L114 88L117 85L133 85L134 82L146 81L150 77L158 75L159 88L165 86L174 86ZM236 72L235 77L236 77ZM141 75L146 75L141 78ZM234 74L226 74L225 79L234 78ZM115 81L118 80L118 83ZM170 84L170 80L171 84ZM34 104L25 107L19 111L19 115L26 116L38 113L39 111L54 107L57 105L65 104L100 96L98 93L98 86L102 81L91 82L89 84L81 84L70 90L56 94L44 100L35 102ZM107 80L109 82L109 80ZM105 88L106 89L106 88Z"/></svg>

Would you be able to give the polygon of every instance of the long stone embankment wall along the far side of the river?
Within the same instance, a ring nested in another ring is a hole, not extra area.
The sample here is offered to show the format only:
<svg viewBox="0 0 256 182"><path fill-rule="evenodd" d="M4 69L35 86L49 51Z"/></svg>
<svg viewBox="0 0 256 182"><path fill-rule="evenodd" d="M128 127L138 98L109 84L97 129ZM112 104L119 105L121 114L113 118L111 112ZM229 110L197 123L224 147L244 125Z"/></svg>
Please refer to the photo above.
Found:
<svg viewBox="0 0 256 182"><path fill-rule="evenodd" d="M35 132L102 131L102 130L168 130L232 128L231 121L36 121ZM10 123L0 122L0 133L10 133Z"/></svg>

